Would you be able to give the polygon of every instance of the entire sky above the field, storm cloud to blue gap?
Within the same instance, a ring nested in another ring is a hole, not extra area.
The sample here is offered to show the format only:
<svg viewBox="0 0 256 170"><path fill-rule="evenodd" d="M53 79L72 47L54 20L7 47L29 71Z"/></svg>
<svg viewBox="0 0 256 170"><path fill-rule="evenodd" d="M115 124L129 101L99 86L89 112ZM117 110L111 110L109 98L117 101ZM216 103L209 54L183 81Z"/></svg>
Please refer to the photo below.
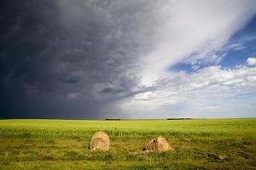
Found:
<svg viewBox="0 0 256 170"><path fill-rule="evenodd" d="M255 0L3 0L0 117L256 116Z"/></svg>

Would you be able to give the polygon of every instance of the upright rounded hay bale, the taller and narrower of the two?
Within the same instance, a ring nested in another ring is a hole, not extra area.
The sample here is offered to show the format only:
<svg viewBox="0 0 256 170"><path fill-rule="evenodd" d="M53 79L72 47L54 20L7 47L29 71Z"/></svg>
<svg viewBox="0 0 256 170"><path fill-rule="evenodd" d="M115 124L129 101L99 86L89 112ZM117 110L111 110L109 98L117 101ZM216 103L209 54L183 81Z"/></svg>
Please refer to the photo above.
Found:
<svg viewBox="0 0 256 170"><path fill-rule="evenodd" d="M107 133L96 132L90 139L90 150L108 150L109 137Z"/></svg>

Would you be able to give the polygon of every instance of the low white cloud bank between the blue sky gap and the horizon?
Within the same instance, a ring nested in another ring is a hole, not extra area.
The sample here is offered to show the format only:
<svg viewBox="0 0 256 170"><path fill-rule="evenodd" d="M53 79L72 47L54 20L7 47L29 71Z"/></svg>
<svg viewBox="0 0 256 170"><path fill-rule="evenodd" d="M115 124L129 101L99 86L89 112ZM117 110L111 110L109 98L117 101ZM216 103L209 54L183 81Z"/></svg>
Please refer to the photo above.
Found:
<svg viewBox="0 0 256 170"><path fill-rule="evenodd" d="M157 90L137 94L133 99L123 102L121 108L131 114L147 109L147 116L155 117L224 117L245 110L242 113L244 115L240 116L253 116L256 111L253 107L256 101L255 67L242 66L226 70L215 65L192 74L181 71L176 77L154 82L153 86ZM134 108L137 108L136 111ZM161 114L155 115L157 111Z"/></svg>

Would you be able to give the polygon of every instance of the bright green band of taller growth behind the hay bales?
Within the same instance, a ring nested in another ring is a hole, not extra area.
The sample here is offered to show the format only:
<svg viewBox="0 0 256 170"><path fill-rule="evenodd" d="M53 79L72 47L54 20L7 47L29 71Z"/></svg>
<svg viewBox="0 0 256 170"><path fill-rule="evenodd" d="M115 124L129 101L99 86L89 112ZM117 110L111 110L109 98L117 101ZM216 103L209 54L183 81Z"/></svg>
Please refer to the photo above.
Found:
<svg viewBox="0 0 256 170"><path fill-rule="evenodd" d="M111 137L255 135L256 119L215 120L137 120L137 121L67 121L67 120L2 120L2 137L60 138L91 136L99 130Z"/></svg>

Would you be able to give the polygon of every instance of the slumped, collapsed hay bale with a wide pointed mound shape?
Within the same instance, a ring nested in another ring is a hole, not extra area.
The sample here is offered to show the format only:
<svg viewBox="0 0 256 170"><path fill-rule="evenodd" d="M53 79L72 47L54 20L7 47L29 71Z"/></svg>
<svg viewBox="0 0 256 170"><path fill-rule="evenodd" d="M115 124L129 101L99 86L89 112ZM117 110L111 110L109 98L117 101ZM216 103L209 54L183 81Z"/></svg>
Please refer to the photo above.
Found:
<svg viewBox="0 0 256 170"><path fill-rule="evenodd" d="M157 137L148 142L147 146L143 148L144 151L167 151L174 150L164 137Z"/></svg>

